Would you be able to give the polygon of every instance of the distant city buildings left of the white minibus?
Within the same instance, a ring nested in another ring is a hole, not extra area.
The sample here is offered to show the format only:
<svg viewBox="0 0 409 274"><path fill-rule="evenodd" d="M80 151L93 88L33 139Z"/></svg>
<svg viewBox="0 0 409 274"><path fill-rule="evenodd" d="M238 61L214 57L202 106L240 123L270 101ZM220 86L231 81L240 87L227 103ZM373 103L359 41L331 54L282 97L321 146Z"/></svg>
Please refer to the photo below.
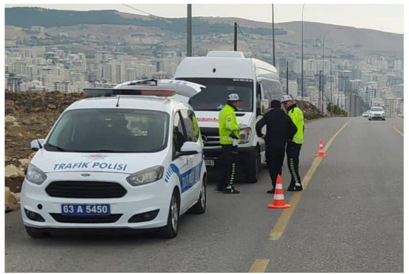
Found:
<svg viewBox="0 0 409 274"><path fill-rule="evenodd" d="M33 27L32 31L44 31ZM61 32L60 36L66 36ZM162 58L137 58L124 52L85 53L57 47L6 48L5 83L10 91L81 92L86 87L114 86L136 79L171 78L182 53L164 51Z"/></svg>

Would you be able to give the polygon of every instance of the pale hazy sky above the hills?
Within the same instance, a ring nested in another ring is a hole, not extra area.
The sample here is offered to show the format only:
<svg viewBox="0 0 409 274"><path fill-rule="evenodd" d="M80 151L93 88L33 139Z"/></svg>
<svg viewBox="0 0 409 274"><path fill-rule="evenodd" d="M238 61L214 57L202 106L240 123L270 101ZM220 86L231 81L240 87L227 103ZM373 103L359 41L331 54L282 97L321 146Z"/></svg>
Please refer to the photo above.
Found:
<svg viewBox="0 0 409 274"><path fill-rule="evenodd" d="M185 4L127 4L162 17L186 17ZM64 10L119 10L143 14L121 4L37 4L6 5L6 7L31 6ZM301 4L275 4L275 22L301 21ZM271 22L269 4L193 4L192 16L240 17L256 21ZM304 20L330 24L373 28L389 32L403 33L402 4L307 4Z"/></svg>

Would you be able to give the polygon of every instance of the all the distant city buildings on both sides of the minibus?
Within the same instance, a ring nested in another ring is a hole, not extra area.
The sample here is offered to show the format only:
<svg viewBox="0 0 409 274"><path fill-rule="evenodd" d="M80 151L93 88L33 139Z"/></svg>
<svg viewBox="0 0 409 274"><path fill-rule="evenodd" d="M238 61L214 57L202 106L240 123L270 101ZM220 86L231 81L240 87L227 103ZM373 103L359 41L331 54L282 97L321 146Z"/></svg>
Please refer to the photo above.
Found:
<svg viewBox="0 0 409 274"><path fill-rule="evenodd" d="M37 37L50 36L40 26L33 26L27 31L36 33ZM60 41L65 41L69 36L66 31L59 31L55 35L57 38L54 38ZM87 39L90 37L87 36ZM231 40L231 35L209 36L206 39ZM136 79L172 78L180 61L186 56L185 52L177 49L159 49L155 44L150 44L155 42L153 40L147 42L152 50L151 57L129 55L115 47L84 53L56 46L27 46L21 41L6 42L6 88L17 92L81 92L86 87L111 87ZM253 44L254 48L256 46ZM101 45L98 47L104 48ZM360 115L372 106L384 107L388 116L403 114L403 60L384 56L358 59L353 55L331 52L326 54L323 67L321 56L304 56L304 94L301 94L300 55L291 56L285 48L277 52L276 67L283 93L287 92L288 86L288 93L294 98L303 97L319 107L319 73L324 71L324 111L332 103L345 110L349 116ZM258 53L257 58L271 63L269 50L260 50ZM255 57L248 52L245 52L245 56Z"/></svg>

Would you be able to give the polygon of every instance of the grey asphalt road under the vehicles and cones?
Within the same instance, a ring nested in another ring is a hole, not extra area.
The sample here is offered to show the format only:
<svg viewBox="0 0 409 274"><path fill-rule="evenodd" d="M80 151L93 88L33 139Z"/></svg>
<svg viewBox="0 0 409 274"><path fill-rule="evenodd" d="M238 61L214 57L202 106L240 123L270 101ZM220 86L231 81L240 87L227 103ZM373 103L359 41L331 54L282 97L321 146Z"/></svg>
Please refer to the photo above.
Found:
<svg viewBox="0 0 409 274"><path fill-rule="evenodd" d="M306 124L303 178L324 145L349 118ZM350 119L317 166L294 211L272 241L283 210L267 209L267 169L239 195L208 185L204 215L184 215L179 235L76 234L31 239L19 211L6 214L6 272L266 272L403 271L403 119ZM284 188L289 174L283 172ZM285 192L286 201L292 193ZM256 261L257 262L257 261ZM265 261L266 262L266 261Z"/></svg>

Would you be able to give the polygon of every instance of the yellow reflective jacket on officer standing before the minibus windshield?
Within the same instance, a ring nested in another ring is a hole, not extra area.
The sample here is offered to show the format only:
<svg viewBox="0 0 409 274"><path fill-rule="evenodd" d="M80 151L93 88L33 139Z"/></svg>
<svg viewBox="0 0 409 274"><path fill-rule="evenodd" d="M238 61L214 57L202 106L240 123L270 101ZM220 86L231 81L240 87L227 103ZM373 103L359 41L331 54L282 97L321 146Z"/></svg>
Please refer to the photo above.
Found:
<svg viewBox="0 0 409 274"><path fill-rule="evenodd" d="M233 133L239 138L240 125L236 120L235 108L226 104L219 112L219 137L221 145L231 145L233 141L230 134Z"/></svg>

